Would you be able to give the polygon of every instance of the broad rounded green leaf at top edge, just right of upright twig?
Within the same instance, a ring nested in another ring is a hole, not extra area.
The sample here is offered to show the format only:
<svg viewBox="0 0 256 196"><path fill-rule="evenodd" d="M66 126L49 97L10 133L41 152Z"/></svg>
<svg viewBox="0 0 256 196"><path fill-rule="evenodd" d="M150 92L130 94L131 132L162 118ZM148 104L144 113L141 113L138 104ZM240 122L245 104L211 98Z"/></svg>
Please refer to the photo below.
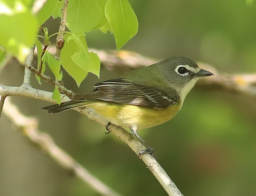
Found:
<svg viewBox="0 0 256 196"><path fill-rule="evenodd" d="M67 10L67 27L72 32L90 31L101 19L101 8L95 0L73 0Z"/></svg>

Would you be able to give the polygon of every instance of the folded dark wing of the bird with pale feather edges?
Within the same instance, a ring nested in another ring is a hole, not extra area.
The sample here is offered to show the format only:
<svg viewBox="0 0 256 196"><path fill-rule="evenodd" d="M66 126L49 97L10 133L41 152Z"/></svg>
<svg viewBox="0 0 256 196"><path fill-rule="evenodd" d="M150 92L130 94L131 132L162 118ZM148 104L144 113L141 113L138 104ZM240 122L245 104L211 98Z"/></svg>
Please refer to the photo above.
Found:
<svg viewBox="0 0 256 196"><path fill-rule="evenodd" d="M133 84L125 79L107 80L94 85L94 91L76 95L77 99L96 99L119 104L131 104L156 109L167 108L179 101L179 96L172 96L165 91L143 85Z"/></svg>

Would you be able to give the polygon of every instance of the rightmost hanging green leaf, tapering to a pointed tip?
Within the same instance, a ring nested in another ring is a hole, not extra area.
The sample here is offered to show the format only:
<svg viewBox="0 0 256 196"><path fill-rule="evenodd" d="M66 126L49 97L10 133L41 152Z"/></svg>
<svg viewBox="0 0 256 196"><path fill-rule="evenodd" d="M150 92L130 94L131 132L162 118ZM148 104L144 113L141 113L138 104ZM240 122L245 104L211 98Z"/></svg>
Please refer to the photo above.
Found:
<svg viewBox="0 0 256 196"><path fill-rule="evenodd" d="M138 20L127 0L109 0L105 15L113 30L116 48L119 50L138 31Z"/></svg>

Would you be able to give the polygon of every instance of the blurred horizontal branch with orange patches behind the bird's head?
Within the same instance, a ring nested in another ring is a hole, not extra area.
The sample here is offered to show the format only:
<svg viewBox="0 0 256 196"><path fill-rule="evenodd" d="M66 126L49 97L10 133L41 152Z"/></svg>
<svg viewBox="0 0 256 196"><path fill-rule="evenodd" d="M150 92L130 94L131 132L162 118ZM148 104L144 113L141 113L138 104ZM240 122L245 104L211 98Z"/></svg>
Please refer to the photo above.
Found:
<svg viewBox="0 0 256 196"><path fill-rule="evenodd" d="M49 51L54 54L53 47ZM119 73L127 73L140 67L149 66L159 60L144 57L130 51L113 51L91 49L98 54L101 64L107 69ZM208 90L222 90L230 93L241 94L256 98L256 74L222 74L213 66L206 63L198 63L200 68L211 71L214 77L203 77L196 83L197 87Z"/></svg>

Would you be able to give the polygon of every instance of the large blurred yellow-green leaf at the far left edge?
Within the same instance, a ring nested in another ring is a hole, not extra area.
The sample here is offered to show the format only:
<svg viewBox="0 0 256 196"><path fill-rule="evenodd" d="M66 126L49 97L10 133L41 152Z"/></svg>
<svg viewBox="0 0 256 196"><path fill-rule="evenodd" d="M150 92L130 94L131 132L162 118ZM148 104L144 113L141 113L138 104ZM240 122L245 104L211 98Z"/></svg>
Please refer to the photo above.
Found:
<svg viewBox="0 0 256 196"><path fill-rule="evenodd" d="M0 2L1 6L5 5ZM24 62L35 42L38 24L30 10L24 8L19 11L21 13L5 9L5 14L0 15L0 45L20 62Z"/></svg>

